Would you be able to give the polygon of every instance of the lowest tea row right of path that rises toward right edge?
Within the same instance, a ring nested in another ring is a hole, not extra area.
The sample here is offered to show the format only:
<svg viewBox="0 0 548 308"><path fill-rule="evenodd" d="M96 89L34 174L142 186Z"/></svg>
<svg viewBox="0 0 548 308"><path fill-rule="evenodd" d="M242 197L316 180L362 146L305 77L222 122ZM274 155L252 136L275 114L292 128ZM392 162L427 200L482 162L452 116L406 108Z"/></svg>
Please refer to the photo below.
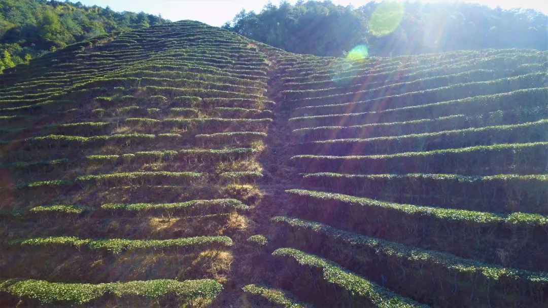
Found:
<svg viewBox="0 0 548 308"><path fill-rule="evenodd" d="M548 142L534 142L386 155L296 155L291 161L307 172L534 175L546 171L547 152Z"/></svg>

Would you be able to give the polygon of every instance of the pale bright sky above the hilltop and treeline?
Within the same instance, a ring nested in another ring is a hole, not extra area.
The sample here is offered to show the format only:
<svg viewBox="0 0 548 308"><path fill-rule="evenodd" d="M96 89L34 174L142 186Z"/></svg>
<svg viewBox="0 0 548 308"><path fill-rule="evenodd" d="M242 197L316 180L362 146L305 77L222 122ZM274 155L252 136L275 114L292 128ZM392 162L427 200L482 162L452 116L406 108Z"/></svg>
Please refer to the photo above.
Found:
<svg viewBox="0 0 548 308"><path fill-rule="evenodd" d="M240 10L254 10L257 13L268 3L267 0L79 0L85 5L99 5L100 7L110 6L115 11L144 11L149 14L162 14L163 18L177 21L191 19L205 22L212 26L221 26L226 21L231 20ZM436 0L426 0L427 2L436 2ZM426 2L423 0L423 2ZM452 1L452 0L445 0ZM77 0L72 0L77 2ZM295 3L296 0L291 0ZM369 0L332 0L335 4L348 5L355 7L366 4ZM533 8L548 15L548 1L546 0L465 0L465 2L475 2L496 7L499 5L503 9L510 8ZM278 4L279 0L273 0L273 4Z"/></svg>

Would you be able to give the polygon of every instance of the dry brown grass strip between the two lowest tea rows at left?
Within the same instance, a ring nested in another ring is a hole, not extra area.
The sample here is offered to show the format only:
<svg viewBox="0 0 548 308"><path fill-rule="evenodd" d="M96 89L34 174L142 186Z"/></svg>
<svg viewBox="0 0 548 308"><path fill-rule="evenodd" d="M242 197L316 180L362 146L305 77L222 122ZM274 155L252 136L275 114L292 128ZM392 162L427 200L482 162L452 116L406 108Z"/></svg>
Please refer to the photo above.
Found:
<svg viewBox="0 0 548 308"><path fill-rule="evenodd" d="M33 249L0 254L3 278L103 283L154 279L230 279L230 251L132 251L119 255L72 249Z"/></svg>

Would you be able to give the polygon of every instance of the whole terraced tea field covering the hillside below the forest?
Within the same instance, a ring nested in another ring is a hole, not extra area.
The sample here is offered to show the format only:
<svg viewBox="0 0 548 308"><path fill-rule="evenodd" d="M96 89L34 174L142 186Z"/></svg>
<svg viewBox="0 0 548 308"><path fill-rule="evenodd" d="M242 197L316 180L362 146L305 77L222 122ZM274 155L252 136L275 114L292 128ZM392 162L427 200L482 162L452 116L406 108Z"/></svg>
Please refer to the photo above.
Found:
<svg viewBox="0 0 548 308"><path fill-rule="evenodd" d="M0 77L0 305L545 307L548 54L198 22Z"/></svg>

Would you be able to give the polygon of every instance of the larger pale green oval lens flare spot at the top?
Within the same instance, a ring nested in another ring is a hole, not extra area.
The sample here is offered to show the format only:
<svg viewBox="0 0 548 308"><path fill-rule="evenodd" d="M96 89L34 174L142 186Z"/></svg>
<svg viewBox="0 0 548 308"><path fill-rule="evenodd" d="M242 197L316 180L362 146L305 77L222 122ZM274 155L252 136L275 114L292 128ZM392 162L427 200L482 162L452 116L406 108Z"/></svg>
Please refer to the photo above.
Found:
<svg viewBox="0 0 548 308"><path fill-rule="evenodd" d="M373 11L369 19L369 31L377 37L387 36L403 19L403 2L384 1Z"/></svg>

